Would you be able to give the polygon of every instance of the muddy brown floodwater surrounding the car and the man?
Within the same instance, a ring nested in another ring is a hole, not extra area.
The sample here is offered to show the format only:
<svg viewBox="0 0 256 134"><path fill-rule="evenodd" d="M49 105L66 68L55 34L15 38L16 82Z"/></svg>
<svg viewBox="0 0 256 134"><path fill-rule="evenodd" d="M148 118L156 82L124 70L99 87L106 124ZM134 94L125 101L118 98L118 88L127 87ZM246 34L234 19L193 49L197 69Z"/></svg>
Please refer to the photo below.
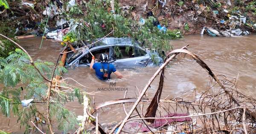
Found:
<svg viewBox="0 0 256 134"><path fill-rule="evenodd" d="M29 52L34 59L43 61L56 61L58 53L61 51L59 43L44 40L42 48L39 49L41 42L40 37L27 38L20 40L20 44ZM227 78L236 78L239 74L238 84L246 87L247 94L252 97L256 94L256 35L243 37L209 37L207 35L188 35L179 40L171 40L173 48L181 48L189 44L189 51L197 54L212 69L215 74L224 74ZM204 91L209 80L209 75L195 61L188 58L172 61L165 73L165 83L162 97L175 97L192 88L197 91ZM154 68L117 68L123 75L123 79L117 79L112 74L109 82L102 82L95 77L95 73L86 67L68 69L64 78L70 77L77 80L87 88L81 87L87 92L96 92L90 95L95 98L96 105L99 103L121 99L124 91L101 91L98 88L109 87L110 82L116 82L116 87L128 88L127 97L138 96L138 89L141 91L157 67ZM148 90L148 97L154 94L159 77L151 84ZM69 83L78 86L72 80ZM187 93L190 94L189 92ZM256 97L254 97L256 98ZM92 100L92 99L91 99ZM75 112L76 115L83 114L83 107L78 102L70 102L65 105L68 109ZM125 114L122 111L122 105L110 106L100 111L99 123L119 122ZM56 124L56 123L54 123ZM54 125L57 130L56 125ZM20 124L16 119L0 117L0 130L12 133L22 133Z"/></svg>

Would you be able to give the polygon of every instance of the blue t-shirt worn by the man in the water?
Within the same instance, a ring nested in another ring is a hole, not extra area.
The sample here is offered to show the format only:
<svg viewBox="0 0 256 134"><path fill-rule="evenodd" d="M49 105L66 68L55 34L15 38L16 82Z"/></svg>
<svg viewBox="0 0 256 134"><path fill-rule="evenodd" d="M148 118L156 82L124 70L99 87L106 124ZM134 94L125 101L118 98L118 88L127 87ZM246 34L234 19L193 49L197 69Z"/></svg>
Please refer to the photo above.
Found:
<svg viewBox="0 0 256 134"><path fill-rule="evenodd" d="M113 64L110 64L110 63L94 63L93 69L95 70L96 77L98 77L100 80L103 80L104 73L103 73L102 65L105 71L108 70L108 65L109 65L108 79L110 79L110 74L116 71L115 66L113 66Z"/></svg>

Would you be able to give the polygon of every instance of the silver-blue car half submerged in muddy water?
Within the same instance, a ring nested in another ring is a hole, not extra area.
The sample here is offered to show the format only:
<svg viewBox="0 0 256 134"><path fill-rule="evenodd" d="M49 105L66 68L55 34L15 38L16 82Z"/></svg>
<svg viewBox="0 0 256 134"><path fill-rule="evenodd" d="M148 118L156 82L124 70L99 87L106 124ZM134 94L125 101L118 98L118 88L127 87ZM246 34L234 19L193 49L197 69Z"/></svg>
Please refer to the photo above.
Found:
<svg viewBox="0 0 256 134"><path fill-rule="evenodd" d="M82 48L76 54L68 55L65 65L67 67L90 66L92 55L99 59L101 53L109 55L109 63L117 68L159 66L163 59L157 52L151 52L139 46L131 38L107 37L90 48ZM154 54L154 56L152 56ZM154 62L151 57L154 57Z"/></svg>

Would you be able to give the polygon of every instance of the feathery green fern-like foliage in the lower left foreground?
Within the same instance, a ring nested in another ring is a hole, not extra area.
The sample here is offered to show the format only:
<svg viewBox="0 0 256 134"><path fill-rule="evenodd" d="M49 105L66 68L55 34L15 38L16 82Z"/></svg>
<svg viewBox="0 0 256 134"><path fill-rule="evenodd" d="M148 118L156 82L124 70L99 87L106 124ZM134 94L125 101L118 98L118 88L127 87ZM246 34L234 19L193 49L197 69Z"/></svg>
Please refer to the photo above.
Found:
<svg viewBox="0 0 256 134"><path fill-rule="evenodd" d="M53 63L36 60L35 66L44 76L48 77L48 79L51 78ZM58 67L55 75L59 75L60 72L67 72L67 69ZM47 98L48 90L47 83L29 63L29 57L21 49L17 48L15 51L10 52L6 58L0 57L0 83L4 86L3 91L0 92L0 109L6 117L9 117L12 111L14 116L17 116L17 121L20 122L20 125L25 128L24 133L31 131L30 121L37 122L36 117L44 120L44 122L38 123L44 125L46 122L46 117L44 116L46 115L41 114L35 104L32 103L27 107L20 107L20 98L26 100L34 98L34 101L44 101ZM19 85L22 85L22 87L17 88ZM65 83L61 83L61 86L71 87ZM22 90L26 92L23 96L21 96ZM58 94L51 100L50 118L57 117L59 130L66 134L67 130L74 128L77 121L75 115L64 108L64 104L61 102L73 101L77 98L81 103L82 95L79 88L74 88L70 91L66 90L66 92L59 91ZM47 105L47 103L43 104Z"/></svg>

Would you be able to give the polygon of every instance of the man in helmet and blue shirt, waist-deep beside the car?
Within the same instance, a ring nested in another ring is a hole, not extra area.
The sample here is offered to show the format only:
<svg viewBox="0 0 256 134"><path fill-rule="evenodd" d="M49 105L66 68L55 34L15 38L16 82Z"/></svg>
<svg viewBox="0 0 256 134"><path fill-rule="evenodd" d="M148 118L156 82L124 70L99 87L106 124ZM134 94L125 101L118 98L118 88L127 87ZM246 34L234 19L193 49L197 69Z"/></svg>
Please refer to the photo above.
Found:
<svg viewBox="0 0 256 134"><path fill-rule="evenodd" d="M90 69L95 70L96 77L98 77L100 80L110 79L112 72L116 74L117 78L119 79L123 77L119 71L116 71L116 68L113 66L113 64L108 63L108 54L100 54L99 60L100 63L94 63L95 57L93 56L90 63Z"/></svg>

